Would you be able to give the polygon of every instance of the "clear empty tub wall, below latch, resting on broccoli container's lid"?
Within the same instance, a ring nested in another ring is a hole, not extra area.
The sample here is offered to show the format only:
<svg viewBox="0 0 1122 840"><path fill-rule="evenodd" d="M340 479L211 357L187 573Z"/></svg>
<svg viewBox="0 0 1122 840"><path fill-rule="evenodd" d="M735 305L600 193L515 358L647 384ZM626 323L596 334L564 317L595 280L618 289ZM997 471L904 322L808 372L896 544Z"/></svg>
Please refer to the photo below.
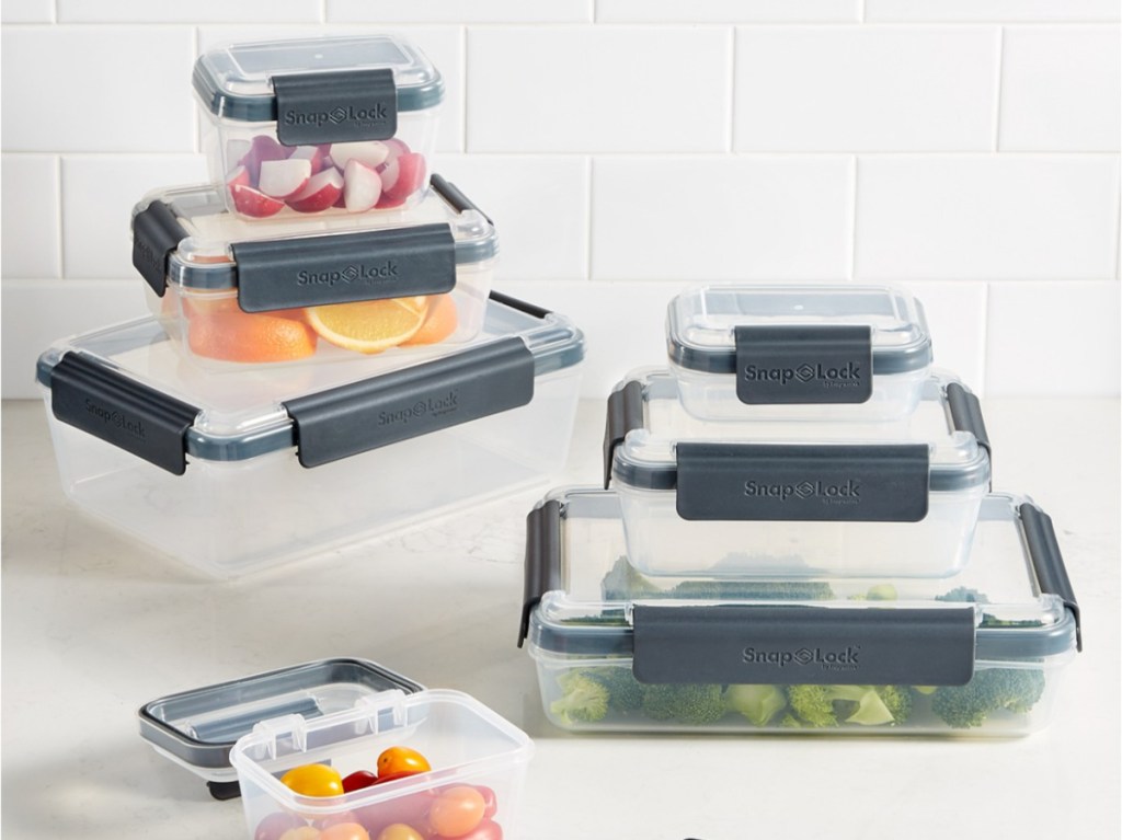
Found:
<svg viewBox="0 0 1122 840"><path fill-rule="evenodd" d="M673 490L616 486L632 564L651 575L946 578L969 559L985 487L932 492L918 523L690 521Z"/></svg>

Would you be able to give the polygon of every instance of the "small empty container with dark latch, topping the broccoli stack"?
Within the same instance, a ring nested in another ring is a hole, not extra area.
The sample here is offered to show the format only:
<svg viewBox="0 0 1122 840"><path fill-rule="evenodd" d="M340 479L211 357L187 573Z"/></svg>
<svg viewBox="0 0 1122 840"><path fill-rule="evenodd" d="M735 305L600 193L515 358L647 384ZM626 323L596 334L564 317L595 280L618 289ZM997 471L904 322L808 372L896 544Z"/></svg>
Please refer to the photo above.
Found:
<svg viewBox="0 0 1122 840"><path fill-rule="evenodd" d="M714 419L883 421L931 364L919 301L882 286L708 286L666 313L686 409Z"/></svg>

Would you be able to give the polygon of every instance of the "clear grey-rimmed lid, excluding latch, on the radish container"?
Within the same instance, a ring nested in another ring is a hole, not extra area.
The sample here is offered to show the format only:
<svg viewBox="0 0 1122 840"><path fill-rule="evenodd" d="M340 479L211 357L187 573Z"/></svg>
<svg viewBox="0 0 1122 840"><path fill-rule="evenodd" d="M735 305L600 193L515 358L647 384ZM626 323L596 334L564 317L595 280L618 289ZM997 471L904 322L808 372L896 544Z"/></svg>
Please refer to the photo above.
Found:
<svg viewBox="0 0 1122 840"><path fill-rule="evenodd" d="M349 80L377 82L385 76L390 91L396 91L397 111L433 108L444 95L443 80L432 63L394 35L274 40L210 49L195 62L192 84L203 107L217 117L270 122L277 119L277 93L283 91L284 80L307 76L320 76L325 89ZM370 85L361 86L369 90Z"/></svg>

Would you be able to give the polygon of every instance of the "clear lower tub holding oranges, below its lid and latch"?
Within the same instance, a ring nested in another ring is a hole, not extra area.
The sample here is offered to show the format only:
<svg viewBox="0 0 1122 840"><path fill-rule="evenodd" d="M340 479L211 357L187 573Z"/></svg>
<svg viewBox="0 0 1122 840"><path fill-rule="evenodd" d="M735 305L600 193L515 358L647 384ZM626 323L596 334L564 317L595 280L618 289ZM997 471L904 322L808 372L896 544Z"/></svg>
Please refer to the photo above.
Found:
<svg viewBox="0 0 1122 840"><path fill-rule="evenodd" d="M462 344L482 327L496 262L457 266L456 287L443 295L273 312L243 312L236 289L172 283L160 297L145 284L145 294L149 311L186 358L212 372L234 372Z"/></svg>

